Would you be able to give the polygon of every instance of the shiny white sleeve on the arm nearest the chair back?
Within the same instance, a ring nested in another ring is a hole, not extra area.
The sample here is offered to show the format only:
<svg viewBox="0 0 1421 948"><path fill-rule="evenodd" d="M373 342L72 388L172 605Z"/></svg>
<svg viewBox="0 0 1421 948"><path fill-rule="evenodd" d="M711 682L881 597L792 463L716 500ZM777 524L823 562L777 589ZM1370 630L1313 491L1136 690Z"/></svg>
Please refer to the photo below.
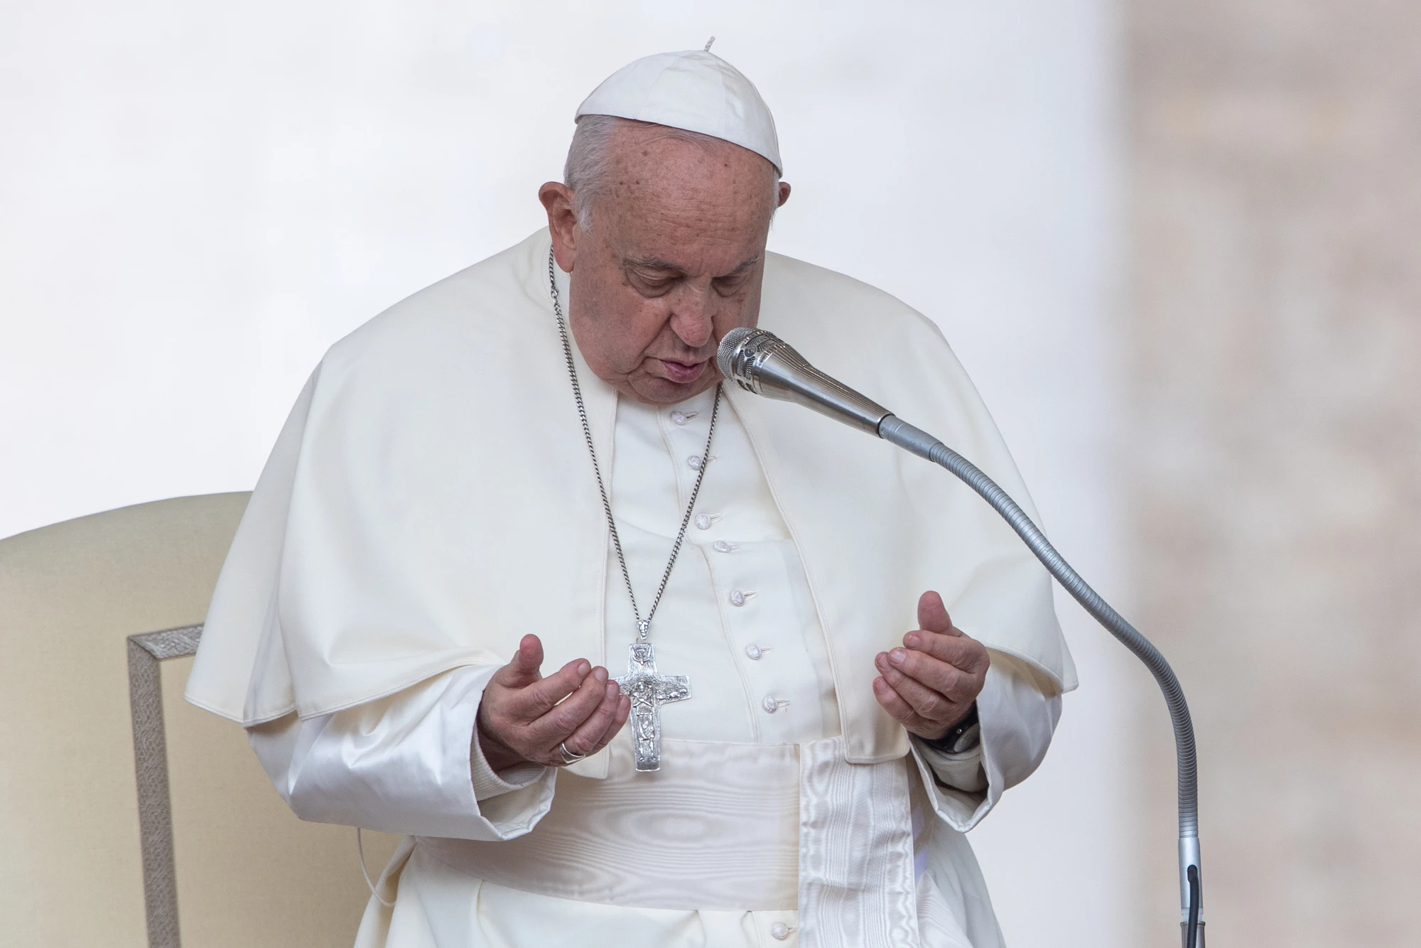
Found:
<svg viewBox="0 0 1421 948"><path fill-rule="evenodd" d="M495 773L477 743L479 701L496 667L436 675L320 718L247 729L281 799L303 820L385 833L507 840L553 803L556 772Z"/></svg>

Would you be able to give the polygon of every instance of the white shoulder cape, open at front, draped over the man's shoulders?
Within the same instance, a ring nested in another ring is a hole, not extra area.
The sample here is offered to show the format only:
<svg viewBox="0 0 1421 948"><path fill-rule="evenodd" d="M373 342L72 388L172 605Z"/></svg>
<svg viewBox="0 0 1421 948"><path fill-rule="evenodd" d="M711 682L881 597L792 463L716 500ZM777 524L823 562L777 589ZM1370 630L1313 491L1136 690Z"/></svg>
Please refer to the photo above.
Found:
<svg viewBox="0 0 1421 948"><path fill-rule="evenodd" d="M605 664L608 533L547 290L550 237L395 304L337 343L301 391L237 529L188 701L253 725L324 715L442 671ZM938 328L894 297L769 254L760 325L931 431L1036 516ZM615 398L587 385L603 463ZM850 762L901 758L872 657L942 593L953 623L1060 691L1076 671L1046 571L945 470L728 385L800 549L828 638ZM600 767L598 767L600 769Z"/></svg>

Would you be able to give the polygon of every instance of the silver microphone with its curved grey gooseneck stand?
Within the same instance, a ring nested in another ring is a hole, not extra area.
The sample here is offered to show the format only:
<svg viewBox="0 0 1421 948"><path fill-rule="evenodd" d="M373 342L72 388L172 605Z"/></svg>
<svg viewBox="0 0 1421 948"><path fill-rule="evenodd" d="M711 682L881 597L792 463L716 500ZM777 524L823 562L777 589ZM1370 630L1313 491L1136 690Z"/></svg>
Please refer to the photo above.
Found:
<svg viewBox="0 0 1421 948"><path fill-rule="evenodd" d="M1056 551L1020 506L971 460L928 432L914 428L882 405L810 365L787 343L764 330L740 327L720 340L716 354L720 374L740 388L811 408L836 421L898 445L956 475L992 505L1016 530L1046 570L1090 615L1134 652L1164 692L1174 723L1174 749L1179 782L1179 907L1184 948L1204 948L1204 876L1199 860L1199 799L1189 706L1174 669L1160 650L1100 597Z"/></svg>

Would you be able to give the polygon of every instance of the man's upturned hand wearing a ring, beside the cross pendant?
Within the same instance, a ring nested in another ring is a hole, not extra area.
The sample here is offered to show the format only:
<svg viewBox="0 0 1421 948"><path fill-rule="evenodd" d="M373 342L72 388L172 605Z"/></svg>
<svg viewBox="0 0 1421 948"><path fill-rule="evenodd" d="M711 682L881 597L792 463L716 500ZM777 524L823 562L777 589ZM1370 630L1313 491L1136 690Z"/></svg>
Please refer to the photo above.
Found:
<svg viewBox="0 0 1421 948"><path fill-rule="evenodd" d="M563 746L574 755L595 753L627 723L631 699L608 681L605 668L578 658L543 678L541 665L543 642L524 635L513 661L483 689L479 746L493 770L526 762L560 767L567 763Z"/></svg>

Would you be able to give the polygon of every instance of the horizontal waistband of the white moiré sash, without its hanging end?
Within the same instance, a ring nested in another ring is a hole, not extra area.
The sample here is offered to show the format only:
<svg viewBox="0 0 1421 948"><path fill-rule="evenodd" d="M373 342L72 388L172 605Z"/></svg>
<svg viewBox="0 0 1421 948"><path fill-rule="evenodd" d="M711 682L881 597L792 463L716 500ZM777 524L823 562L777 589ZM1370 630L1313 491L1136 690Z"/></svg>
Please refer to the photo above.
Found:
<svg viewBox="0 0 1421 948"><path fill-rule="evenodd" d="M470 878L556 898L628 910L794 908L796 745L672 739L654 773L637 773L630 732L608 750L607 779L560 777L551 810L526 836L421 839L419 847Z"/></svg>

